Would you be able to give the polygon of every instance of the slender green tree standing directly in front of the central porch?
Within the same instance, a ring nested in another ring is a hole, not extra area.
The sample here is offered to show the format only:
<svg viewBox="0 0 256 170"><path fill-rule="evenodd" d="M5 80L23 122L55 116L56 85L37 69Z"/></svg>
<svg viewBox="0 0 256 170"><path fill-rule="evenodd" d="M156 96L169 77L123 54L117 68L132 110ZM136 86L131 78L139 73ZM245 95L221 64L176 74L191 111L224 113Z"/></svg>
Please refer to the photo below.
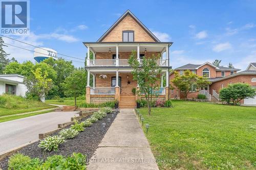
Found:
<svg viewBox="0 0 256 170"><path fill-rule="evenodd" d="M159 80L158 76L162 72L161 67L157 64L157 59L160 56L144 56L142 61L137 59L135 50L129 57L129 64L133 68L133 79L136 80L140 86L137 94L143 93L147 102L148 115L151 114L151 104L153 97L159 95L160 86L156 82Z"/></svg>

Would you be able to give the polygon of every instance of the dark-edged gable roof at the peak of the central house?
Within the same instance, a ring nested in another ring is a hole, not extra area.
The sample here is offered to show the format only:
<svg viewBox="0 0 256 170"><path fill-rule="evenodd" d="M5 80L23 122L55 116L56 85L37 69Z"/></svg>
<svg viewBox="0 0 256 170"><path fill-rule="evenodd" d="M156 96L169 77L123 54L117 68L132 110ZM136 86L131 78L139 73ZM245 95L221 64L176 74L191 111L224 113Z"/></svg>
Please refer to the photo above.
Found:
<svg viewBox="0 0 256 170"><path fill-rule="evenodd" d="M109 30L107 30L98 40L97 42L101 42L106 36L109 35L109 33L118 25L119 22L121 22L121 20L127 16L130 15L139 25L140 27L145 30L145 32L151 36L151 38L153 40L155 40L156 42L160 42L160 40L150 31L146 28L146 26L143 25L143 23L130 11L127 10L122 16L120 16L120 18L117 19L117 21L109 28Z"/></svg>

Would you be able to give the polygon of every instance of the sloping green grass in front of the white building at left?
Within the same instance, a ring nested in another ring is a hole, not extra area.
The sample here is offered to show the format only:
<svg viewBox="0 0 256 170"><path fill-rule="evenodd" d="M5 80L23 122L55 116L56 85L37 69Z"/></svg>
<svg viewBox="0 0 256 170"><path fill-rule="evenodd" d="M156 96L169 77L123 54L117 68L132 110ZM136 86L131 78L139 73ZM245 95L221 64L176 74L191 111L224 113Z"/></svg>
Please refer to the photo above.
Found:
<svg viewBox="0 0 256 170"><path fill-rule="evenodd" d="M0 117L54 107L55 106L35 100L28 100L20 96L7 94L0 95Z"/></svg>

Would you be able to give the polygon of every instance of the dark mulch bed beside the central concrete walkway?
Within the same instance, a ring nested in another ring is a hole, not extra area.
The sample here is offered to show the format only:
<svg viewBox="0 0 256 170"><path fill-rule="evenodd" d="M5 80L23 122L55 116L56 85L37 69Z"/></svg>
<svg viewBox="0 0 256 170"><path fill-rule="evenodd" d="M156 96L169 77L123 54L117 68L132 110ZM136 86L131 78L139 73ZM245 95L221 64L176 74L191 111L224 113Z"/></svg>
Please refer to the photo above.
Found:
<svg viewBox="0 0 256 170"><path fill-rule="evenodd" d="M94 152L98 148L98 145L102 138L104 137L106 131L108 131L109 127L113 123L117 114L114 114L113 111L111 114L107 114L106 117L98 120L97 122L93 123L90 127L84 128L84 131L79 132L79 134L74 137L73 139L66 139L66 142L59 144L59 148L57 152L44 152L39 147L39 141L35 143L31 143L24 147L23 149L19 150L19 153L24 155L30 156L31 158L40 158L46 159L48 156L51 155L62 155L62 156L70 156L72 153L82 153L83 155L87 155L87 163L89 162L90 158L93 156ZM114 118L112 118L112 114L114 114ZM80 121L86 120L88 117L82 118ZM108 118L110 118L110 123L108 123ZM80 122L79 121L79 122ZM105 123L105 128L102 128L102 123ZM69 127L66 127L69 128ZM66 129L65 128L65 129ZM53 133L53 135L57 135L58 132ZM8 168L8 160L9 156L4 158L0 161L0 169Z"/></svg>

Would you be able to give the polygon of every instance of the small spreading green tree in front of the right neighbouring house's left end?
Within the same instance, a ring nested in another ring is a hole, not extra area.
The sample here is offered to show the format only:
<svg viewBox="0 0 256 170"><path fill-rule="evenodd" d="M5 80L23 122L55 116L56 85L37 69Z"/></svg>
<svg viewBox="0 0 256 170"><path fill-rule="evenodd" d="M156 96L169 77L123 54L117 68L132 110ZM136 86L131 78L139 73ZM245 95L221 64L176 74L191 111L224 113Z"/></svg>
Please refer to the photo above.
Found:
<svg viewBox="0 0 256 170"><path fill-rule="evenodd" d="M184 95L185 100L187 99L188 94L211 84L207 78L198 76L189 70L185 70L183 75L179 75L177 71L175 71L174 74L175 78L172 82Z"/></svg>

